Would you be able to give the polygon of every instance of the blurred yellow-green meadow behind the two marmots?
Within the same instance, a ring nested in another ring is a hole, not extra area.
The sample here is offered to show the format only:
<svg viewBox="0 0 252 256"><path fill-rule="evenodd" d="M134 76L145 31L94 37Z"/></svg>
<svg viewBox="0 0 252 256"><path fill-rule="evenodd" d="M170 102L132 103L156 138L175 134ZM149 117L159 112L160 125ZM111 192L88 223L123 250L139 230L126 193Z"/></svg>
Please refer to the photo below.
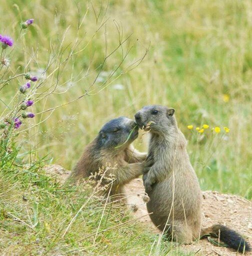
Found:
<svg viewBox="0 0 252 256"><path fill-rule="evenodd" d="M46 163L70 169L109 119L133 118L144 105L166 105L176 110L201 188L251 199L250 0L5 0L0 17L0 34L14 40L8 75L30 70L40 77L35 86L43 81L31 95L39 100L32 106L37 115L22 129L45 121L20 133L23 153L48 154ZM19 23L31 18L34 24L19 36ZM10 102L23 82L12 80L0 99ZM198 134L194 128L203 124L210 127ZM210 131L215 126L219 134ZM141 136L134 144L147 149Z"/></svg>

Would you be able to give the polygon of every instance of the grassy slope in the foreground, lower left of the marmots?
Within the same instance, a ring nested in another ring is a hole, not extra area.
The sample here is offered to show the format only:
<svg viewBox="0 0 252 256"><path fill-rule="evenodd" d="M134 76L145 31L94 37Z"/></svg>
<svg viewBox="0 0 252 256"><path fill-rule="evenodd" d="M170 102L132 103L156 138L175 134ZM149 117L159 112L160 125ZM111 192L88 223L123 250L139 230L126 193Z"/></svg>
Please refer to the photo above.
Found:
<svg viewBox="0 0 252 256"><path fill-rule="evenodd" d="M40 164L1 168L1 255L177 255L130 211L102 203L90 186L60 186Z"/></svg>

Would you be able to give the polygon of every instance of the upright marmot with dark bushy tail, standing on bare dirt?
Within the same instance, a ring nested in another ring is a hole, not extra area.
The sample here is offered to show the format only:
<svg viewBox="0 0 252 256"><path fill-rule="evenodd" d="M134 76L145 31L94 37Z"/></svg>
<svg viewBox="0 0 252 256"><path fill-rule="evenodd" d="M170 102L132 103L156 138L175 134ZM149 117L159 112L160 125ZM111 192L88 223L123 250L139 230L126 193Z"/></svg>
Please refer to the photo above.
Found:
<svg viewBox="0 0 252 256"><path fill-rule="evenodd" d="M213 225L200 231L201 190L186 151L186 140L177 128L174 109L160 105L143 107L135 114L139 128L150 131L148 156L152 166L143 169L143 184L150 198L148 212L153 223L180 243L191 243L206 234L236 250L249 250L235 231ZM219 235L220 234L220 235Z"/></svg>

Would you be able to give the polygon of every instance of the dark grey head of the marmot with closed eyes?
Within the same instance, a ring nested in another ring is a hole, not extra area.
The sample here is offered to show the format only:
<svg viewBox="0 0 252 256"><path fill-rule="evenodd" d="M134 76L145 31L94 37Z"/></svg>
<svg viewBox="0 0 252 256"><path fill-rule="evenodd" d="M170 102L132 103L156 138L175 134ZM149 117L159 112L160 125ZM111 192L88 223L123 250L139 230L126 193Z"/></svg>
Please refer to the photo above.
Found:
<svg viewBox="0 0 252 256"><path fill-rule="evenodd" d="M99 131L97 142L103 149L124 149L138 136L134 120L118 117L107 122Z"/></svg>

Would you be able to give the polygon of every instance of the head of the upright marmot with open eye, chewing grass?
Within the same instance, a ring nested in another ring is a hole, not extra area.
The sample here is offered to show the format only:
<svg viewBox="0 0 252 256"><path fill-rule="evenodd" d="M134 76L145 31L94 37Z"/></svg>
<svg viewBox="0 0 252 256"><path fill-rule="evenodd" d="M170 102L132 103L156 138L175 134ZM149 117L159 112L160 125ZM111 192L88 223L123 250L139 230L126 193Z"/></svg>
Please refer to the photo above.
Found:
<svg viewBox="0 0 252 256"><path fill-rule="evenodd" d="M175 110L160 105L145 106L135 114L138 127L154 133L167 132L176 125Z"/></svg>

